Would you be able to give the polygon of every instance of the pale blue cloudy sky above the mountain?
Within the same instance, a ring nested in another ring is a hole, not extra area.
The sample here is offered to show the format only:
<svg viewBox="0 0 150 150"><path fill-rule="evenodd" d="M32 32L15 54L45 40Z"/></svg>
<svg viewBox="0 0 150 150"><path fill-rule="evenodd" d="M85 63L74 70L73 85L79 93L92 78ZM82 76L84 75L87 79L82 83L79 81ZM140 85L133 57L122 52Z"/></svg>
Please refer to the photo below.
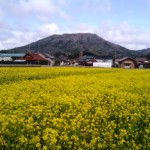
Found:
<svg viewBox="0 0 150 150"><path fill-rule="evenodd" d="M150 48L150 0L0 0L0 50L64 33Z"/></svg>

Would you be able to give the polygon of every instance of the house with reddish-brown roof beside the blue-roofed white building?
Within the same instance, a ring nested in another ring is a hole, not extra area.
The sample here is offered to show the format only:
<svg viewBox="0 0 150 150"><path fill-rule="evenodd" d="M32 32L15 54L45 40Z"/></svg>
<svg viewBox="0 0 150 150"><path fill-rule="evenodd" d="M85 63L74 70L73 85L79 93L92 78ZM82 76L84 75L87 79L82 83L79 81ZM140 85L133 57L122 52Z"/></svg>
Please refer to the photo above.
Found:
<svg viewBox="0 0 150 150"><path fill-rule="evenodd" d="M18 59L18 60L25 60L27 64L39 64L39 65L50 65L51 59L46 58L41 53L28 53L24 57Z"/></svg>

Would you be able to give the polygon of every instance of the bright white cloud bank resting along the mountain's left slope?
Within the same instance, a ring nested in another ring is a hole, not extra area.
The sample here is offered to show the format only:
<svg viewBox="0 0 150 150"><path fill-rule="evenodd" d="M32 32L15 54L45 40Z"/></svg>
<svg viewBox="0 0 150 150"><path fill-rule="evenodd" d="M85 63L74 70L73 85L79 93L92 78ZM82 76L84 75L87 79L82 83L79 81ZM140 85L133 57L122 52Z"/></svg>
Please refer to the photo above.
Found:
<svg viewBox="0 0 150 150"><path fill-rule="evenodd" d="M0 36L0 49L10 49L23 46L31 42L40 40L52 34L60 34L60 27L55 23L44 24L33 31L11 31L6 30ZM9 38L8 38L9 37Z"/></svg>

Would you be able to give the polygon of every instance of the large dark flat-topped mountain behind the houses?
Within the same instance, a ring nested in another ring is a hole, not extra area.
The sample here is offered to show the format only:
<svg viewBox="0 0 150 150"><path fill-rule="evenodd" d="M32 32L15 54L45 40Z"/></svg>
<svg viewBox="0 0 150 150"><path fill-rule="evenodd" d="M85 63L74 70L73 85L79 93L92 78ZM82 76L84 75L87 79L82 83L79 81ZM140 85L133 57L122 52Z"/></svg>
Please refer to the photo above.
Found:
<svg viewBox="0 0 150 150"><path fill-rule="evenodd" d="M83 54L107 55L117 57L136 56L137 51L129 50L111 43L91 33L52 35L31 44L8 50L8 52L41 52L55 57L77 58Z"/></svg>

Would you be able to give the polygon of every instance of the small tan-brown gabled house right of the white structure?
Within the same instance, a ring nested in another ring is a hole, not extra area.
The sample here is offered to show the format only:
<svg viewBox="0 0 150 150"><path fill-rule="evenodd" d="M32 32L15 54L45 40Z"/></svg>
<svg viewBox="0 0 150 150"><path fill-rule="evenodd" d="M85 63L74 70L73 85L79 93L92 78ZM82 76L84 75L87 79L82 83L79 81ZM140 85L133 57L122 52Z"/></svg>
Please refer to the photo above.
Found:
<svg viewBox="0 0 150 150"><path fill-rule="evenodd" d="M118 60L118 64L120 68L134 69L137 62L130 57L124 57Z"/></svg>

